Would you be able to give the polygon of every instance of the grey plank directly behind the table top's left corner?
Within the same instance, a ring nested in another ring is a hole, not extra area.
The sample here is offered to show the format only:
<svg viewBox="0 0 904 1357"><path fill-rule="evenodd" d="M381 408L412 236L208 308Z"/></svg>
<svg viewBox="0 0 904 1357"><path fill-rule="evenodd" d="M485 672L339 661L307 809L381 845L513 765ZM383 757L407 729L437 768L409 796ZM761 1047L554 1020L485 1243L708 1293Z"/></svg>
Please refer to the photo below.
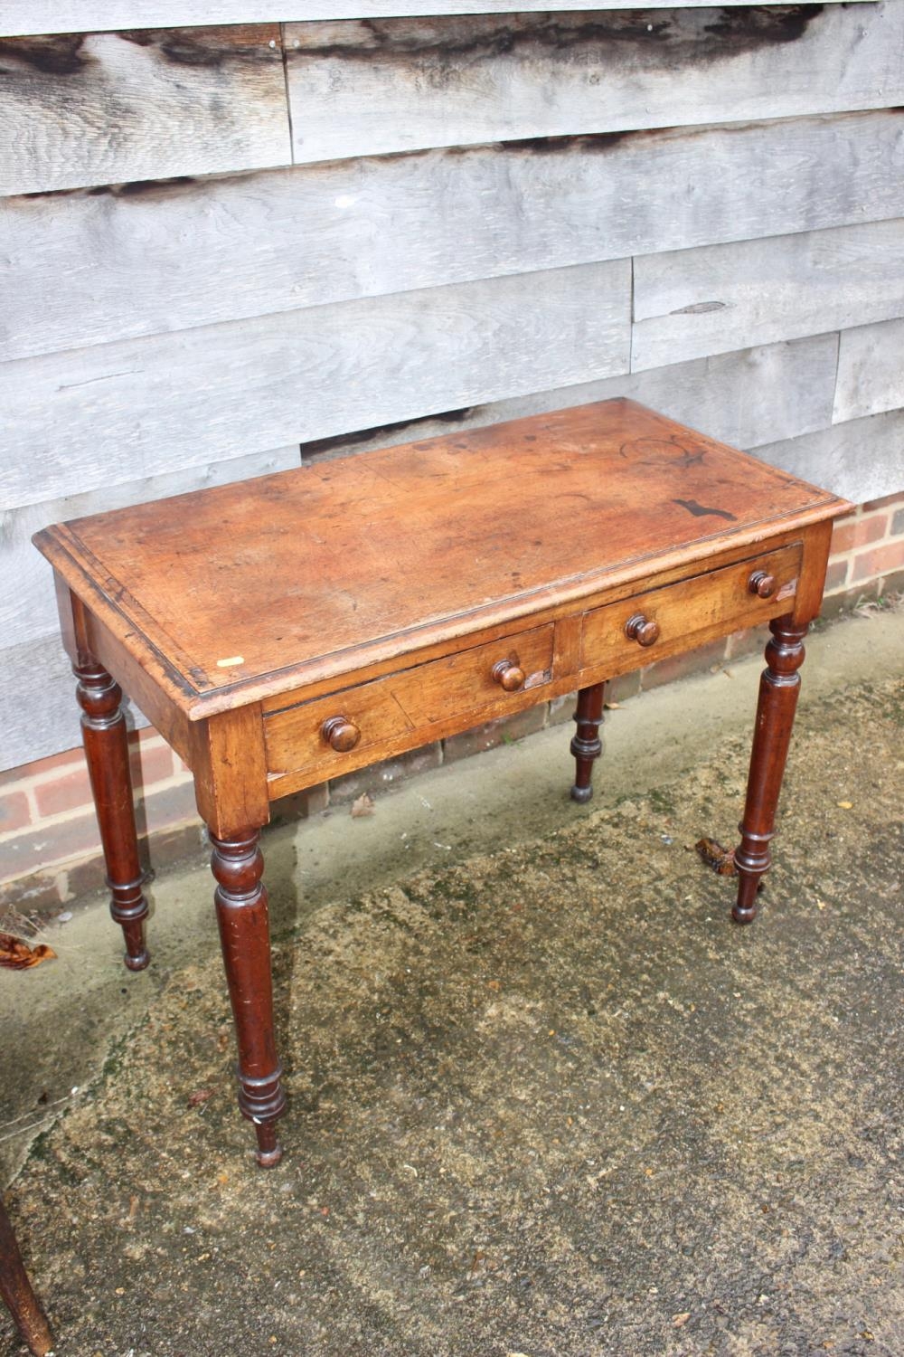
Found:
<svg viewBox="0 0 904 1357"><path fill-rule="evenodd" d="M80 518L83 514L123 509L126 505L182 495L207 486L222 486L229 480L287 471L298 463L298 444L293 444L272 452L252 453L249 457L230 457L228 461L190 467L164 476L104 484L87 494L0 512L0 579L15 579L15 589L4 590L0 597L0 635L4 646L18 645L57 628L52 570L31 546L31 535L39 528L66 518Z"/></svg>

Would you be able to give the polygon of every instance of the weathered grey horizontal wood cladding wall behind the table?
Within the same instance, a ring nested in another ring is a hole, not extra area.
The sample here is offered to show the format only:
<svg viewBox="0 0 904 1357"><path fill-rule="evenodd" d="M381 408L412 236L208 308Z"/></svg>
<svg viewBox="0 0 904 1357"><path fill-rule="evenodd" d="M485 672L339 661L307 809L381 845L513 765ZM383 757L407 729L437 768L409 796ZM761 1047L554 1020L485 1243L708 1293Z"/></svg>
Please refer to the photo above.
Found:
<svg viewBox="0 0 904 1357"><path fill-rule="evenodd" d="M0 768L52 520L609 395L904 487L904 0L473 9L0 0Z"/></svg>

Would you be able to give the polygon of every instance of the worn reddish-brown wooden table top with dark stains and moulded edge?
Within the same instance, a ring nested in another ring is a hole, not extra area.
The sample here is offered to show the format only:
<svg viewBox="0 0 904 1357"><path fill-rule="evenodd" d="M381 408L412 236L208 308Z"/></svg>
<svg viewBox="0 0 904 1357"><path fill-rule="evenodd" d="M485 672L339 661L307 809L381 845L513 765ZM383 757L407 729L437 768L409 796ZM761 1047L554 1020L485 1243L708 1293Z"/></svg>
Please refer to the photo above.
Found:
<svg viewBox="0 0 904 1357"><path fill-rule="evenodd" d="M73 592L192 718L529 616L846 501L632 400L47 528Z"/></svg>

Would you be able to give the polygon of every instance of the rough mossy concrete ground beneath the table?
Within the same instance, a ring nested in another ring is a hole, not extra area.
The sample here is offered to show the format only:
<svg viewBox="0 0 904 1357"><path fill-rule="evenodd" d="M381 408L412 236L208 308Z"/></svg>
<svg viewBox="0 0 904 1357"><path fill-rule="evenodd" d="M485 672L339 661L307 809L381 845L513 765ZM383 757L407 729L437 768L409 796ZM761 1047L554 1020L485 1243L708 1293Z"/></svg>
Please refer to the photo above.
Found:
<svg viewBox="0 0 904 1357"><path fill-rule="evenodd" d="M199 862L0 972L9 1213L60 1357L904 1353L904 615L808 643L758 923L756 657L268 833L286 1158L234 1110ZM0 1318L0 1353L19 1352Z"/></svg>

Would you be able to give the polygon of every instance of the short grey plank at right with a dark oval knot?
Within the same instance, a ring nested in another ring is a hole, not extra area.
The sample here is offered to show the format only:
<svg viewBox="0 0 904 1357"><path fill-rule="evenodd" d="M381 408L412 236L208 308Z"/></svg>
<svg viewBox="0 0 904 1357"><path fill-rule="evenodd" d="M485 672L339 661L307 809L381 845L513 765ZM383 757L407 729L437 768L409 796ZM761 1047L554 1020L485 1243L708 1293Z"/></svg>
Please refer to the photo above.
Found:
<svg viewBox="0 0 904 1357"><path fill-rule="evenodd" d="M632 368L901 315L901 220L644 255Z"/></svg>

